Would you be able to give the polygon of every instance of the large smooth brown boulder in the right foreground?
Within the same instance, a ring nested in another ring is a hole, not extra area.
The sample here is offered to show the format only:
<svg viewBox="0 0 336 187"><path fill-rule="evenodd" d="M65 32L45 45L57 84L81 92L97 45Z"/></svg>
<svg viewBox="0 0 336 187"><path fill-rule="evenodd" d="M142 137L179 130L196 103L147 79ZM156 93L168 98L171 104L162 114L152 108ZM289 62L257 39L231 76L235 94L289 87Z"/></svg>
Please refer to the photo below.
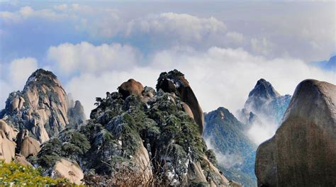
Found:
<svg viewBox="0 0 336 187"><path fill-rule="evenodd" d="M276 135L257 150L259 186L335 186L336 86L305 80L296 87Z"/></svg>

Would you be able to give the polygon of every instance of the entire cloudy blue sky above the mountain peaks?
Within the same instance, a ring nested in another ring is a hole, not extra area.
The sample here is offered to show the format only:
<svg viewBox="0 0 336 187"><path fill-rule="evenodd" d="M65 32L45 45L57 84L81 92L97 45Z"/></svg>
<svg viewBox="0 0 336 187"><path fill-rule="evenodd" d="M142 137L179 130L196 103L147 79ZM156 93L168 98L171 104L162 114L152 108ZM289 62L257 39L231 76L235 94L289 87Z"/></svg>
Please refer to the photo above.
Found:
<svg viewBox="0 0 336 187"><path fill-rule="evenodd" d="M1 108L37 68L55 72L87 115L121 82L155 87L171 69L186 74L204 111L242 108L260 78L281 94L303 79L336 84L308 63L335 54L335 1L0 5Z"/></svg>

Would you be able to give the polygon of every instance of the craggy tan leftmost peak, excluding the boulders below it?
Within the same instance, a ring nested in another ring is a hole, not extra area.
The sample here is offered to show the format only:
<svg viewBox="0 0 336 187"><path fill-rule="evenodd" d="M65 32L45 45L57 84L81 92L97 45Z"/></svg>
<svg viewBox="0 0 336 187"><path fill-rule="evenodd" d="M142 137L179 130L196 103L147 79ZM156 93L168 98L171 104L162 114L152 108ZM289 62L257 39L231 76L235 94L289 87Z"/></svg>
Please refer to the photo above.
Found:
<svg viewBox="0 0 336 187"><path fill-rule="evenodd" d="M38 69L30 75L23 91L9 94L0 118L20 131L29 130L42 143L69 125L67 100L55 74Z"/></svg>

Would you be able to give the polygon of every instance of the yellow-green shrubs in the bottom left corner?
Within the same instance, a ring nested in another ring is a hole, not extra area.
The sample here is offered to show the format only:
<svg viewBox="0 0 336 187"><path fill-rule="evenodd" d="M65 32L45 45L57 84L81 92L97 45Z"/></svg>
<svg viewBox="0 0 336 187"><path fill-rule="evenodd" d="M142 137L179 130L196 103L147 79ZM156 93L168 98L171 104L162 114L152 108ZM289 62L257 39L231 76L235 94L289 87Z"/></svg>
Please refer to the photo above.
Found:
<svg viewBox="0 0 336 187"><path fill-rule="evenodd" d="M0 160L0 186L74 186L66 179L42 176L39 169Z"/></svg>

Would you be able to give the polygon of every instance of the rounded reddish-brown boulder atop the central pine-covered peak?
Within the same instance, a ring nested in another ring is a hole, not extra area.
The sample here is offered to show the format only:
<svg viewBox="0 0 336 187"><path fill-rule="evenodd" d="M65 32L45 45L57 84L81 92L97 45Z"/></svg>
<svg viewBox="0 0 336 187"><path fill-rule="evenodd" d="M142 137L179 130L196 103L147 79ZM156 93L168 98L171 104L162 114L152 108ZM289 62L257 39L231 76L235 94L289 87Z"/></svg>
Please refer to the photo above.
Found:
<svg viewBox="0 0 336 187"><path fill-rule="evenodd" d="M118 91L121 95L123 95L123 98L130 95L141 96L143 89L142 84L134 79L129 79L118 87Z"/></svg>

